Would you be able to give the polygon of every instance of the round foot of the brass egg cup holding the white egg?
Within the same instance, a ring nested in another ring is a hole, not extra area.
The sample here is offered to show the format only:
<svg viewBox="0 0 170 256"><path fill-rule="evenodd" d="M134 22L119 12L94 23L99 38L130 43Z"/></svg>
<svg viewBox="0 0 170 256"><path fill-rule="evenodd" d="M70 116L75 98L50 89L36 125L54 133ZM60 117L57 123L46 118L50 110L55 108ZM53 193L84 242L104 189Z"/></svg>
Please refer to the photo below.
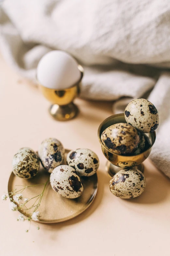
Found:
<svg viewBox="0 0 170 256"><path fill-rule="evenodd" d="M78 112L78 107L73 102L63 106L53 104L49 108L50 115L58 121L67 121L73 119L78 115Z"/></svg>

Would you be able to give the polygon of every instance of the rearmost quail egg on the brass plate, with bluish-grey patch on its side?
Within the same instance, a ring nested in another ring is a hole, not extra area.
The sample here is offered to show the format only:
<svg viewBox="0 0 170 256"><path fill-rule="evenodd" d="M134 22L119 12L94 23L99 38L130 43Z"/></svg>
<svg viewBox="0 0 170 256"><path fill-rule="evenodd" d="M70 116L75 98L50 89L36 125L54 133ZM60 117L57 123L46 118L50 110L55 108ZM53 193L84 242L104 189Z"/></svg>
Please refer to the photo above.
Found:
<svg viewBox="0 0 170 256"><path fill-rule="evenodd" d="M60 141L54 138L44 140L38 150L42 166L51 173L64 160L64 147Z"/></svg>

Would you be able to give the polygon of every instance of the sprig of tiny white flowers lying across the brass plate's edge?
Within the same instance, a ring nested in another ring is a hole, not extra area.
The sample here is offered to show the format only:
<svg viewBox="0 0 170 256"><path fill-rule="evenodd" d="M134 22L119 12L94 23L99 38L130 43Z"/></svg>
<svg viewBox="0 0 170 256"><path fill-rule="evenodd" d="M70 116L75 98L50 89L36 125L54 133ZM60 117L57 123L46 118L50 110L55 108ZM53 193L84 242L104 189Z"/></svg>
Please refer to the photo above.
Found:
<svg viewBox="0 0 170 256"><path fill-rule="evenodd" d="M30 186L22 186L23 188L21 188L20 190L16 191L17 189L14 189L13 191L9 192L9 193L5 193L4 195L1 196L1 199L3 201L6 201L7 198L9 197L11 202L9 203L9 208L12 211L21 211L22 213L18 216L17 221L30 221L30 226L31 226L31 220L34 221L39 221L40 220L40 204L41 204L41 200L42 197L44 195L44 191L45 188L47 186L47 183L49 182L49 180L47 180L46 183L42 183L42 184L36 184L36 185L30 185ZM28 188L28 187L34 187L34 186L38 186L38 185L44 185L43 191L41 194L34 196L32 198L26 198L23 196L22 192ZM21 185L18 185L21 186ZM19 194L17 194L19 193ZM28 202L30 202L31 200L36 199L35 202L28 207ZM30 229L30 228L29 228ZM28 230L25 230L25 232L28 232ZM39 226L37 227L37 230L39 230Z"/></svg>

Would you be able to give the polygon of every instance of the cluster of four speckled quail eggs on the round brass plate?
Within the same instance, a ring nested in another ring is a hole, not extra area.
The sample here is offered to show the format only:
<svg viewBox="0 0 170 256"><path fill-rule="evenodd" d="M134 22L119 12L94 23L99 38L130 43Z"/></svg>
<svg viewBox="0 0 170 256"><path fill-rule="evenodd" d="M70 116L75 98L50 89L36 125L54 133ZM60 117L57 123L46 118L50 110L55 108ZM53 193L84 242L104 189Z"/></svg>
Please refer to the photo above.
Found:
<svg viewBox="0 0 170 256"><path fill-rule="evenodd" d="M64 165L64 153L62 143L54 138L44 140L38 153L31 148L21 148L13 157L13 173L20 178L33 178L41 162L45 171L50 173L52 189L63 197L77 198L83 192L81 177L94 175L99 159L92 150L79 148L67 154L67 165Z"/></svg>

